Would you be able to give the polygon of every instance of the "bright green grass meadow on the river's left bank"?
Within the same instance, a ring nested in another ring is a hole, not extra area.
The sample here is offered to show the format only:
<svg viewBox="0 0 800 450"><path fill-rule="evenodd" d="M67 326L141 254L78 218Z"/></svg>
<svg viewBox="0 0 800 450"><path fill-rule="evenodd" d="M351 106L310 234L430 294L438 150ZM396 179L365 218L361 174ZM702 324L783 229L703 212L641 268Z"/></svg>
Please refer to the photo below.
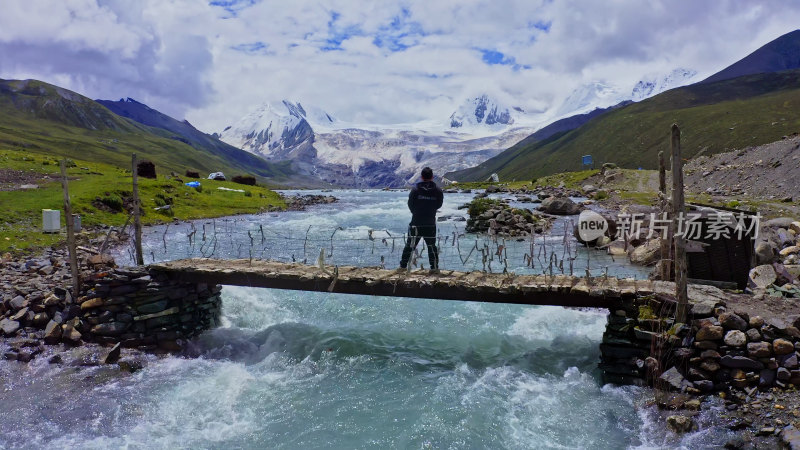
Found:
<svg viewBox="0 0 800 450"><path fill-rule="evenodd" d="M97 207L97 200L120 200L132 195L130 171L98 163L74 160L76 167L67 170L72 210L81 215L84 226L117 225L125 223L126 212L114 212L108 208ZM32 173L52 174L60 180L59 163L52 157L32 155L28 152L0 148L0 168L23 170ZM160 175L151 180L139 177L139 196L142 202L144 224L157 224L175 219L188 220L204 217L220 217L234 214L258 213L270 207L285 207L277 193L262 186L242 186L233 182L199 180L202 192L184 184L171 176ZM241 192L227 192L218 187L242 189ZM250 192L250 195L247 195ZM114 201L112 200L112 203ZM157 211L157 206L171 203L171 210ZM62 210L63 191L60 181L50 181L39 189L0 191L0 205L3 208L0 219L0 252L32 250L50 246L64 239L64 236L41 232L42 209Z"/></svg>

